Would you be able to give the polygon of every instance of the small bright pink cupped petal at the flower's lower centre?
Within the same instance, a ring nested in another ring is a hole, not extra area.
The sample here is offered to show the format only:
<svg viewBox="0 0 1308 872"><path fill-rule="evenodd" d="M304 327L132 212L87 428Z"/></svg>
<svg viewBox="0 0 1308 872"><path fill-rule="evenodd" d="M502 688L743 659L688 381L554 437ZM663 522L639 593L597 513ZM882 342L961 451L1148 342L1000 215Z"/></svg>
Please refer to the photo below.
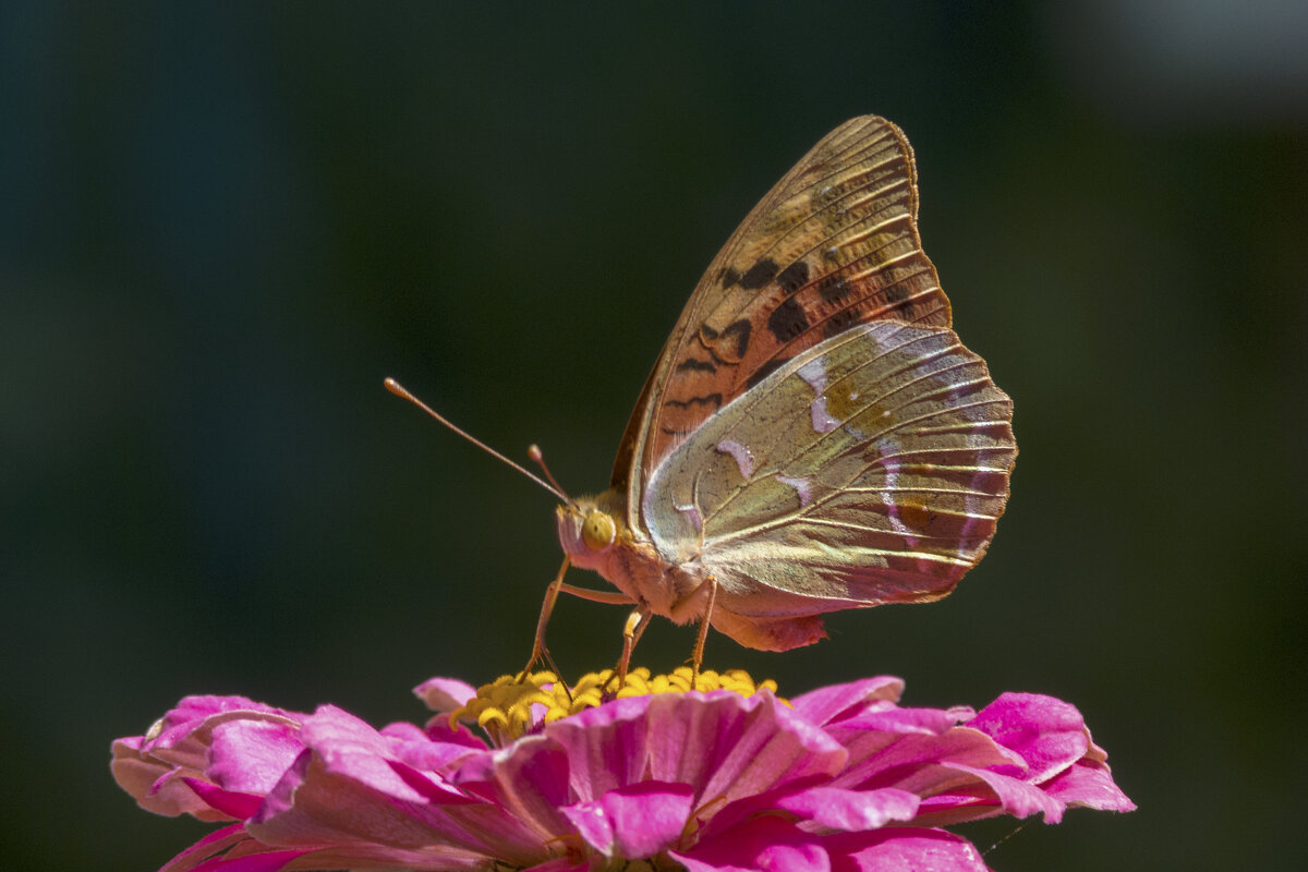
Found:
<svg viewBox="0 0 1308 872"><path fill-rule="evenodd" d="M644 782L562 812L604 856L638 860L664 851L681 837L693 801L687 784Z"/></svg>

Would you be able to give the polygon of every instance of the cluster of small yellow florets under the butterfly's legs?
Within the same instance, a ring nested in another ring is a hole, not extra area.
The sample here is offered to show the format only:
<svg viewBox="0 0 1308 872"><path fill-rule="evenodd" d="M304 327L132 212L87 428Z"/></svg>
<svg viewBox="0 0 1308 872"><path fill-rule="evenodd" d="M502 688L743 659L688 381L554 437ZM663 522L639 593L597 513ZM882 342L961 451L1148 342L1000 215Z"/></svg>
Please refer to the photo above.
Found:
<svg viewBox="0 0 1308 872"><path fill-rule="evenodd" d="M695 689L734 690L742 697L752 697L760 690L776 694L777 682L772 679L755 682L744 669L705 669L700 672ZM573 688L566 688L553 672L532 672L522 681L518 676L505 675L477 688L476 697L450 713L450 727L458 720L476 720L493 741L504 744L536 724L552 723L611 699L688 690L691 667L680 667L668 675L651 675L645 667L637 667L627 673L621 688L617 688L617 675L612 669L587 672Z"/></svg>

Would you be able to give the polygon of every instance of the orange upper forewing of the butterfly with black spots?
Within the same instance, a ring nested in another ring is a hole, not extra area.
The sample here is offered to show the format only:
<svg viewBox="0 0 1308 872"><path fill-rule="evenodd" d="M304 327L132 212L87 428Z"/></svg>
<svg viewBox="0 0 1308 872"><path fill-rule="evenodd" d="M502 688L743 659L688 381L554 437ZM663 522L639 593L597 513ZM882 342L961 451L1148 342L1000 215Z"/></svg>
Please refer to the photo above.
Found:
<svg viewBox="0 0 1308 872"><path fill-rule="evenodd" d="M912 149L865 116L823 139L713 260L628 424L613 467L632 520L640 481L709 416L861 323L948 326L917 233Z"/></svg>

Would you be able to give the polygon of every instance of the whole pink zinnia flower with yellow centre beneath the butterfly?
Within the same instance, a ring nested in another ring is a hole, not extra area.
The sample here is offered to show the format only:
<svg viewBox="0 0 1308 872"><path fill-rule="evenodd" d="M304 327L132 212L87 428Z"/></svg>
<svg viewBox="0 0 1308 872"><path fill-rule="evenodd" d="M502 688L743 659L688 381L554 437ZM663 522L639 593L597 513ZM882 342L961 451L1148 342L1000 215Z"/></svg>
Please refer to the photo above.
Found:
<svg viewBox="0 0 1308 872"><path fill-rule="evenodd" d="M986 867L944 825L1134 808L1080 714L1050 697L904 709L903 682L879 677L787 705L736 673L718 684L738 689L628 686L632 696L593 705L598 692L565 697L553 676L532 680L502 679L476 699L458 681L417 688L437 711L475 715L489 741L449 715L378 731L335 706L298 714L187 697L146 736L114 743L112 771L149 811L233 821L167 872L555 872L623 860L960 872Z"/></svg>

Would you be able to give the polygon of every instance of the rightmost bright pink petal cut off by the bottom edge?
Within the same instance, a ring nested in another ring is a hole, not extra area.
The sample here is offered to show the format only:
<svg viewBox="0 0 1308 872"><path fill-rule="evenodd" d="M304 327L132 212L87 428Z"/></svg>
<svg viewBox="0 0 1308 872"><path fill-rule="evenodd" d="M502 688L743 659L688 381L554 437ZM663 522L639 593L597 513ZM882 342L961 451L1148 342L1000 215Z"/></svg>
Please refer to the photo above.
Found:
<svg viewBox="0 0 1308 872"><path fill-rule="evenodd" d="M832 872L989 872L965 838L918 828L837 833L823 839Z"/></svg>

